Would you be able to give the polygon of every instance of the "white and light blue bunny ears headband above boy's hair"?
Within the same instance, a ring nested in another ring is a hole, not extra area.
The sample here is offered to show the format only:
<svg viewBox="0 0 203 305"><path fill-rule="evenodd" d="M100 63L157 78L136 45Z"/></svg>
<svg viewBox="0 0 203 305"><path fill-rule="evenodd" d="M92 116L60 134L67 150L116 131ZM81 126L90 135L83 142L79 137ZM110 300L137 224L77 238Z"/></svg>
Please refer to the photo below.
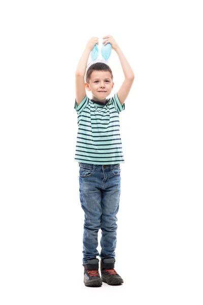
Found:
<svg viewBox="0 0 203 305"><path fill-rule="evenodd" d="M112 46L110 43L107 43L106 46L103 44L99 50L98 45L95 44L91 51L91 61L86 67L86 73L89 67L96 63L104 63L108 65L109 58L111 56ZM85 74L86 74L85 73Z"/></svg>

